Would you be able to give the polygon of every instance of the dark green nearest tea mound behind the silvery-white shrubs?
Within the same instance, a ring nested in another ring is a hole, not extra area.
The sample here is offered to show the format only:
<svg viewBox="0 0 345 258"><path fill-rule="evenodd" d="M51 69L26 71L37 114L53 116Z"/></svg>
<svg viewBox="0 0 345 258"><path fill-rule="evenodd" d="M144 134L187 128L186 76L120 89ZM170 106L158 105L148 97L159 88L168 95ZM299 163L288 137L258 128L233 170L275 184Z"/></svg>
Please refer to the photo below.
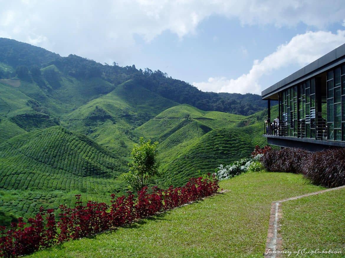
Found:
<svg viewBox="0 0 345 258"><path fill-rule="evenodd" d="M251 136L242 129L211 130L164 160L162 169L166 174L161 182L165 185L182 185L191 177L213 173L219 164L249 157L253 149Z"/></svg>

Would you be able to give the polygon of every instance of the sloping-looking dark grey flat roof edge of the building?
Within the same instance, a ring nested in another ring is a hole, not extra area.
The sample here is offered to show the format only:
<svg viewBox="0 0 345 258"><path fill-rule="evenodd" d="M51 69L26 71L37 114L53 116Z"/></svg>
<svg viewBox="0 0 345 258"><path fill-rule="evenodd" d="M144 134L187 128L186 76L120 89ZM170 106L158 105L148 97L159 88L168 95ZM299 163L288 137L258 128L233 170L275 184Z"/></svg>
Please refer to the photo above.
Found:
<svg viewBox="0 0 345 258"><path fill-rule="evenodd" d="M332 67L337 66L343 62L345 62L345 44L338 46L336 49L325 54L314 62L304 66L297 72L294 72L281 81L263 90L261 92L261 97L262 99L267 99L268 97L274 95L277 92L280 92L283 89L286 89L294 84L302 82L303 80L313 77L328 69L331 69Z"/></svg>

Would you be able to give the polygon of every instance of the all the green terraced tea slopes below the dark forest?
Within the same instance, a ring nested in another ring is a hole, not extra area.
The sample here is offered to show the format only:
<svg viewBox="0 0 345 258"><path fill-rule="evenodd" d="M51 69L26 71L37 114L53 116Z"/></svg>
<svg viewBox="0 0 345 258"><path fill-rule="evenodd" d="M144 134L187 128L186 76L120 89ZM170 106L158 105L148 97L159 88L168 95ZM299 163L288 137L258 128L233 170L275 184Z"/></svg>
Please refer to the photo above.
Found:
<svg viewBox="0 0 345 258"><path fill-rule="evenodd" d="M50 85L42 75L48 88L56 87L51 93L34 82L0 84L6 93L0 98L0 212L7 218L28 218L40 206L73 206L80 193L85 200L109 202L111 193L127 189L124 173L141 136L160 142L161 187L214 172L266 142L263 112L206 112L177 105L132 80L115 88L98 79L81 84L49 69L60 76L59 85ZM98 96L97 84L111 91Z"/></svg>

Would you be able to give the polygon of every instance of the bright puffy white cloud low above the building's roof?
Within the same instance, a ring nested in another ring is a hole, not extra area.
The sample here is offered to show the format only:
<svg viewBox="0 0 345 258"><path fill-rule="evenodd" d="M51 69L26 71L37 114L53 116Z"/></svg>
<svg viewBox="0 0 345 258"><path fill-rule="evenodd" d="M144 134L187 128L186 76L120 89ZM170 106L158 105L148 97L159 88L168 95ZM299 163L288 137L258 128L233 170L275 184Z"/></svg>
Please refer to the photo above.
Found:
<svg viewBox="0 0 345 258"><path fill-rule="evenodd" d="M262 76L288 65L307 65L344 43L345 30L338 30L336 34L317 31L296 35L290 42L278 46L274 53L262 61L254 60L252 69L237 79L210 77L207 82L193 85L203 91L260 94L263 90L259 83Z"/></svg>

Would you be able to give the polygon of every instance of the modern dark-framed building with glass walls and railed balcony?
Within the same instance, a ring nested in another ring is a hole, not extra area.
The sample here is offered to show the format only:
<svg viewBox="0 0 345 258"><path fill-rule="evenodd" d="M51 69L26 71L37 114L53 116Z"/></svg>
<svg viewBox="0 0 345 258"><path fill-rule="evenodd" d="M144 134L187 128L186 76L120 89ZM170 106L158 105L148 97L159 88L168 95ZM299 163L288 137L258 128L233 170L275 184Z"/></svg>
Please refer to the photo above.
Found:
<svg viewBox="0 0 345 258"><path fill-rule="evenodd" d="M265 121L268 143L308 150L345 147L345 44L261 96L268 103L268 118L271 100L278 100L278 120Z"/></svg>

